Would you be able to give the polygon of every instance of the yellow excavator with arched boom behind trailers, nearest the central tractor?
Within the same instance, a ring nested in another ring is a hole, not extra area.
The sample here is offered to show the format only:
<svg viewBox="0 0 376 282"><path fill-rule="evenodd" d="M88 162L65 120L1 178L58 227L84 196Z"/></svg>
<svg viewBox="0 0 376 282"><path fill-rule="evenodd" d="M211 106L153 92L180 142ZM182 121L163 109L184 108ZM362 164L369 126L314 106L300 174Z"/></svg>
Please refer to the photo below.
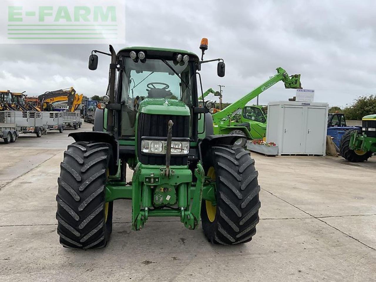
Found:
<svg viewBox="0 0 376 282"><path fill-rule="evenodd" d="M48 91L38 96L42 111L67 111L74 112L81 105L83 94L77 94L73 87ZM65 102L66 106L65 107ZM59 106L63 104L64 106Z"/></svg>

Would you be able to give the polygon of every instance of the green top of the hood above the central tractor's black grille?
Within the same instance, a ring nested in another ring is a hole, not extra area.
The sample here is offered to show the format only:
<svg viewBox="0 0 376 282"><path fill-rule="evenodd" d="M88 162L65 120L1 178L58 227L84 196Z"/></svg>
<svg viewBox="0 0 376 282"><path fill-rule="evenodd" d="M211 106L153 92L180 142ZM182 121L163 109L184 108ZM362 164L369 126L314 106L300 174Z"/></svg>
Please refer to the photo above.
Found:
<svg viewBox="0 0 376 282"><path fill-rule="evenodd" d="M165 98L143 100L139 112L154 115L191 115L190 109L182 101Z"/></svg>

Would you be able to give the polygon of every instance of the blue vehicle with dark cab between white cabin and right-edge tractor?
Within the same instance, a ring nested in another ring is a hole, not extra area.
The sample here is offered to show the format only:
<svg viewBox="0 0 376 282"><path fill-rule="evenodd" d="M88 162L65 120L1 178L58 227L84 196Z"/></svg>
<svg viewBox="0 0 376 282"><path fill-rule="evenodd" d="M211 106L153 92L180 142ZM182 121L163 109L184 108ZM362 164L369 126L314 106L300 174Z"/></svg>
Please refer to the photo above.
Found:
<svg viewBox="0 0 376 282"><path fill-rule="evenodd" d="M333 113L328 115L327 135L332 136L337 150L340 147L342 136L349 130L358 129L357 126L347 126L345 115L341 113Z"/></svg>

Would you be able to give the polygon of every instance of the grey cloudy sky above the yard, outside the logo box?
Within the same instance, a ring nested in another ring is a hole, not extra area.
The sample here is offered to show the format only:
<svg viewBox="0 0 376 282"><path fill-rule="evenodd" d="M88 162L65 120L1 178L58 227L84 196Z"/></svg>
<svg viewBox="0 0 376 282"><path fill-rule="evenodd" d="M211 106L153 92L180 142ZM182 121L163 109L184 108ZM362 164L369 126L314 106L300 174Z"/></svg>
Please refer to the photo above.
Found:
<svg viewBox="0 0 376 282"><path fill-rule="evenodd" d="M225 85L224 102L239 99L282 67L302 75L303 88L315 89L315 102L345 106L359 95L376 94L374 11L373 0L127 0L125 46L199 54L200 39L207 37L205 58L223 58L226 76L216 75L215 63L203 65L204 91ZM109 58L101 56L98 70L89 71L92 49L108 46L0 44L0 89L36 96L74 86L86 96L102 96ZM260 104L294 94L279 82L260 95Z"/></svg>

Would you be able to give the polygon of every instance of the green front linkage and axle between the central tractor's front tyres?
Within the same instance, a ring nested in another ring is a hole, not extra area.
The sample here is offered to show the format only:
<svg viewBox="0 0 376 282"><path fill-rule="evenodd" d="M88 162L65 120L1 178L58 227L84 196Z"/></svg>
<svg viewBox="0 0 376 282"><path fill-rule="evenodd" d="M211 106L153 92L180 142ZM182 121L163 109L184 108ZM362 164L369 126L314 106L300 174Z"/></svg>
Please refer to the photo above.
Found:
<svg viewBox="0 0 376 282"><path fill-rule="evenodd" d="M180 217L188 229L195 229L200 222L202 193L213 190L214 183L204 184L204 170L197 164L192 183L188 167L172 166L171 175L165 168L138 163L132 183L109 182L106 185L106 202L116 199L132 199L132 229L141 230L148 217ZM177 189L175 189L177 187ZM214 194L213 194L214 197ZM192 203L190 201L192 199ZM177 204L177 208L162 209Z"/></svg>

